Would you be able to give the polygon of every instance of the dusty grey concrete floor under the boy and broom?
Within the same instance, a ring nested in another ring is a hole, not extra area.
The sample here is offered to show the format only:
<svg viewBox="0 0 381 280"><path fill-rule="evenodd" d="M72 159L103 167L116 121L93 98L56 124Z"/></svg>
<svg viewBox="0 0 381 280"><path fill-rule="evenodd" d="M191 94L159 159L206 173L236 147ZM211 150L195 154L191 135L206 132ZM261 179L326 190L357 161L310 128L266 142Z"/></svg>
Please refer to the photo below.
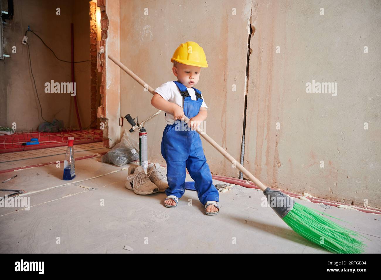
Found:
<svg viewBox="0 0 381 280"><path fill-rule="evenodd" d="M75 157L102 151L107 149L94 144ZM0 163L0 170L64 158L35 156ZM0 253L329 253L293 232L271 208L262 208L259 190L237 186L221 193L221 212L207 216L195 191L186 190L176 208L166 208L165 193L134 194L124 187L127 171L99 157L76 161L75 170L69 183L55 165L0 174L1 181L18 175L2 188L32 192L25 195L29 211L0 208ZM367 253L381 253L380 216L296 201L351 222L336 221L370 239Z"/></svg>

